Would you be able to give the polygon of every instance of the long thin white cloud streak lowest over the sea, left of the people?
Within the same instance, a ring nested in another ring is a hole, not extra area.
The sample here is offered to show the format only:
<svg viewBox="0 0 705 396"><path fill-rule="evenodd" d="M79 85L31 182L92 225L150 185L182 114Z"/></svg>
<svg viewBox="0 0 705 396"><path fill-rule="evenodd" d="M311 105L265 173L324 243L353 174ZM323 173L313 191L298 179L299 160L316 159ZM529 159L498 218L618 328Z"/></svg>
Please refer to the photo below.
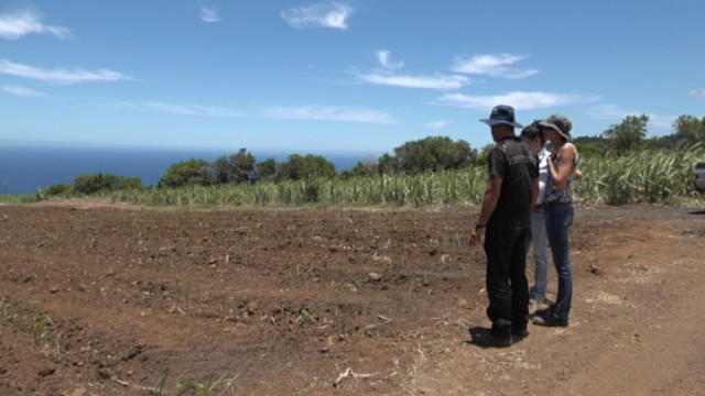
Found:
<svg viewBox="0 0 705 396"><path fill-rule="evenodd" d="M335 106L271 107L263 110L238 109L200 105L180 105L155 101L122 103L133 110L158 111L177 116L206 118L250 118L269 120L312 120L362 123L395 123L389 114L373 109L340 108Z"/></svg>

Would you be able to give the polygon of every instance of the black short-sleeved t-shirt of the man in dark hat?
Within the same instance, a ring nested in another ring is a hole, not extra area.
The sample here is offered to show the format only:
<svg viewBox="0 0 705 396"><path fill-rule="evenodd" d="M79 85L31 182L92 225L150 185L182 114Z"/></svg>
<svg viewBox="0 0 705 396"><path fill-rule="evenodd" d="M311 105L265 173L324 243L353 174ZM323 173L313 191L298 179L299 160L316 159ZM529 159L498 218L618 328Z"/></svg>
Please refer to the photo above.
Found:
<svg viewBox="0 0 705 396"><path fill-rule="evenodd" d="M500 141L489 153L489 177L502 179L497 207L488 227L531 227L533 183L539 177L539 158L519 138Z"/></svg>

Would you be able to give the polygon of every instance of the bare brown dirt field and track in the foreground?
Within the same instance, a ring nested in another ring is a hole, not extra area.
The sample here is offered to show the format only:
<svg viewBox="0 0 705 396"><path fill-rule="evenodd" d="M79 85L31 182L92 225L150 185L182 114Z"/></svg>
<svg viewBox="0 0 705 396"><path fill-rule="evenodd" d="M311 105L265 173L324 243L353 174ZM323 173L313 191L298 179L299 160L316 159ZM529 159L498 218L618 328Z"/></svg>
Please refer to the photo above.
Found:
<svg viewBox="0 0 705 396"><path fill-rule="evenodd" d="M494 349L469 210L0 206L0 395L705 395L704 213L578 208Z"/></svg>

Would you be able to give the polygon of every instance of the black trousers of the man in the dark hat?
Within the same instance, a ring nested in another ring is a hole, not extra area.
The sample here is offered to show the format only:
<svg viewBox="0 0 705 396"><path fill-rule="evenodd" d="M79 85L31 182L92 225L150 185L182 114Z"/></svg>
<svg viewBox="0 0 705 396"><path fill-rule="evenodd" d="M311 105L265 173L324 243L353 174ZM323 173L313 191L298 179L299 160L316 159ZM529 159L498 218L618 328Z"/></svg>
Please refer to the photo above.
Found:
<svg viewBox="0 0 705 396"><path fill-rule="evenodd" d="M492 321L492 333L509 337L511 330L527 328L529 318L529 283L527 251L531 228L497 228L488 226L485 232L487 254L487 316Z"/></svg>

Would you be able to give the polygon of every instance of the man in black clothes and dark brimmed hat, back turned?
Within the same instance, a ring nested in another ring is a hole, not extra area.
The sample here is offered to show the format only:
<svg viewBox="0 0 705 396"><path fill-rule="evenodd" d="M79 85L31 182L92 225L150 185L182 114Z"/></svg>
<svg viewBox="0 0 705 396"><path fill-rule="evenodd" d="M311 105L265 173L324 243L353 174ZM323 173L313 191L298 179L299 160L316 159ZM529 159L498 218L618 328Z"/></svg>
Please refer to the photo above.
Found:
<svg viewBox="0 0 705 396"><path fill-rule="evenodd" d="M531 241L531 207L539 191L539 160L529 145L514 135L521 128L514 109L496 106L489 119L497 145L489 153L489 183L471 243L485 230L487 255L487 316L497 346L509 346L529 334L529 284L524 270Z"/></svg>

